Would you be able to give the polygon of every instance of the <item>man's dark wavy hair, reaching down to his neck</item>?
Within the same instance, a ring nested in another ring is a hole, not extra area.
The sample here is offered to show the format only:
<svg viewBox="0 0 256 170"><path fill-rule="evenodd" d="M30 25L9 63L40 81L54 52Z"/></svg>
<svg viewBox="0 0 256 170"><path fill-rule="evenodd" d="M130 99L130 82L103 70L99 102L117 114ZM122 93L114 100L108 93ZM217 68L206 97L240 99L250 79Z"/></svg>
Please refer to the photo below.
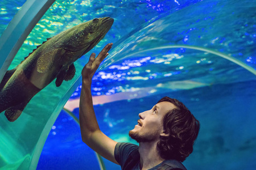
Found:
<svg viewBox="0 0 256 170"><path fill-rule="evenodd" d="M187 107L177 99L163 97L158 101L168 101L175 105L163 117L163 129L167 137L160 137L158 148L163 159L183 162L193 151L193 144L200 129L200 123Z"/></svg>

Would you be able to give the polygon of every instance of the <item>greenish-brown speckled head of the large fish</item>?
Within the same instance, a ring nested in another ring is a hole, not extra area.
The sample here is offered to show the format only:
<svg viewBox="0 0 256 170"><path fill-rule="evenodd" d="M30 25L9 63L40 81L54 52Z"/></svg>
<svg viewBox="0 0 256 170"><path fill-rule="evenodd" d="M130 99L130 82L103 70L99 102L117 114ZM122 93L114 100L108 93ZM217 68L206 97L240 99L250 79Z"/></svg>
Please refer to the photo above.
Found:
<svg viewBox="0 0 256 170"><path fill-rule="evenodd" d="M78 59L104 38L113 22L113 18L105 17L81 23L60 33L55 45Z"/></svg>

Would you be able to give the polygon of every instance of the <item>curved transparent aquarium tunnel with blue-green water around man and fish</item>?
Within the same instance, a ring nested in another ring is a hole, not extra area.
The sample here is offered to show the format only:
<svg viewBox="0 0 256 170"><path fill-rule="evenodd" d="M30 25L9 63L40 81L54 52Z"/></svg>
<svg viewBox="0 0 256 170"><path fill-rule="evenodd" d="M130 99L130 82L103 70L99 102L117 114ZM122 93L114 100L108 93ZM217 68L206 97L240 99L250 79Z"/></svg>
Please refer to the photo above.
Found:
<svg viewBox="0 0 256 170"><path fill-rule="evenodd" d="M0 16L7 18L1 23L2 33L24 1L1 3ZM97 54L114 42L92 84L101 130L116 141L134 143L128 132L138 114L163 96L174 97L201 122L194 151L184 161L188 169L254 169L255 4L56 1L9 70L46 38L86 20L110 16L115 19L112 29L89 52ZM75 78L60 87L53 81L33 97L18 120L9 122L0 114L0 169L102 169L94 152L82 143L79 125L67 114L79 116L80 73L89 53L75 62ZM61 111L63 107L68 111ZM104 164L106 169L121 169L105 159Z"/></svg>

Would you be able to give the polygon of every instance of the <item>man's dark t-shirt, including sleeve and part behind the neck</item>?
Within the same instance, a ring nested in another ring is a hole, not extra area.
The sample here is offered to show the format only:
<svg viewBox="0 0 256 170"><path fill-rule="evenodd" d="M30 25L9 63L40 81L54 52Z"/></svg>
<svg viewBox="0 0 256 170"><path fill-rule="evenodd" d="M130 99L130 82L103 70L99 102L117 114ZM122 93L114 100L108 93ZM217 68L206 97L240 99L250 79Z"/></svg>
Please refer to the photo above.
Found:
<svg viewBox="0 0 256 170"><path fill-rule="evenodd" d="M117 162L121 165L122 169L140 170L139 169L140 158L139 158L138 150L139 150L138 145L134 145L132 143L117 143L114 151L115 160L117 160ZM173 168L180 168L180 169L187 170L184 167L184 165L178 162L177 160L164 160L162 163L148 170L157 170L160 167L173 167Z"/></svg>

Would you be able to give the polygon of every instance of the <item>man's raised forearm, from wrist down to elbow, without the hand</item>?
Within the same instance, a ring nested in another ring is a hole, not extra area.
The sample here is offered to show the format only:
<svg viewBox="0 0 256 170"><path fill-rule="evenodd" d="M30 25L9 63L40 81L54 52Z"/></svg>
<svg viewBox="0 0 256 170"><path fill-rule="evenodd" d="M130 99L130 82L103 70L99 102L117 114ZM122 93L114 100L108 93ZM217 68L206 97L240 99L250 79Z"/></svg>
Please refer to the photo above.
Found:
<svg viewBox="0 0 256 170"><path fill-rule="evenodd" d="M80 95L79 117L82 141L90 138L90 135L97 130L100 130L93 109L91 80L82 81L82 89Z"/></svg>

